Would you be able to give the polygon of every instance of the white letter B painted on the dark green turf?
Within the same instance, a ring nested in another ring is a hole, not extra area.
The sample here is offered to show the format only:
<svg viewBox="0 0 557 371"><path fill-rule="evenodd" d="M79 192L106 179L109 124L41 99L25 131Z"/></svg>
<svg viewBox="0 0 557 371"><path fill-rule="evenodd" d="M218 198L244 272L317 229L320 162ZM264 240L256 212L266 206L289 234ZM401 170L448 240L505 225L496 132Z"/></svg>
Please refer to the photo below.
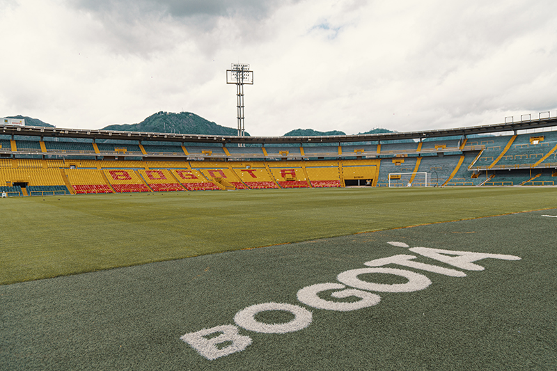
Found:
<svg viewBox="0 0 557 371"><path fill-rule="evenodd" d="M221 333L219 336L207 339L205 336L210 336L214 333ZM225 324L223 326L213 327L212 329L203 329L196 332L187 333L180 339L191 345L192 348L207 358L209 361L217 359L221 356L228 356L235 352L242 352L248 345L251 344L249 336L240 335L238 328L233 324ZM217 345L225 342L232 342L232 344L219 349Z"/></svg>

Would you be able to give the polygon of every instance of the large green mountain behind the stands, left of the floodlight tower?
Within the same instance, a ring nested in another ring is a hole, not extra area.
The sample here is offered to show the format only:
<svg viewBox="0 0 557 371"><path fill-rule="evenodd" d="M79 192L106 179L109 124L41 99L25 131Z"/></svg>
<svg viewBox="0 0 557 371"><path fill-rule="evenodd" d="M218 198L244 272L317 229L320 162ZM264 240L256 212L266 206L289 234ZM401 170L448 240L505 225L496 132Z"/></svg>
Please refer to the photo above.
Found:
<svg viewBox="0 0 557 371"><path fill-rule="evenodd" d="M139 124L109 125L101 130L202 135L237 135L237 129L224 127L190 112L157 112ZM246 133L246 136L249 136Z"/></svg>

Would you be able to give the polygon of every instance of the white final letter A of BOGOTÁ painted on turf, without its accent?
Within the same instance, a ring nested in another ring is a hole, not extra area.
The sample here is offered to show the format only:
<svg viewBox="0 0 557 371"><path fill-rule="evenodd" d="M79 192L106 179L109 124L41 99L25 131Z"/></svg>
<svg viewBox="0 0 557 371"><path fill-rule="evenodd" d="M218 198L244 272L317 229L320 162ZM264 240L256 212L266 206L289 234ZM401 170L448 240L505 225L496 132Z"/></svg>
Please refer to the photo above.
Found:
<svg viewBox="0 0 557 371"><path fill-rule="evenodd" d="M471 251L450 251L442 250L441 248L428 248L428 247L412 247L409 251L427 256L439 262L444 262L453 267L466 269L467 271L483 271L485 268L481 265L473 264L477 260L485 258L501 259L501 260L520 260L518 256L514 255L501 255L501 254L488 254L488 253L473 253Z"/></svg>

